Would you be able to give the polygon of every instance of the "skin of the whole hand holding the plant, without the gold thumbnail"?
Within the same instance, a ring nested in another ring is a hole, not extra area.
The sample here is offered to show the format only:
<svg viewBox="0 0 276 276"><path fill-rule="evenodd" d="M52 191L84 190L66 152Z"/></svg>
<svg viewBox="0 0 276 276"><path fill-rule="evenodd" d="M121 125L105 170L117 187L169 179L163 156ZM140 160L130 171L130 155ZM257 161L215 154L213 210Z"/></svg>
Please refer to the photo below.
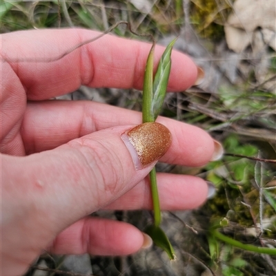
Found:
<svg viewBox="0 0 276 276"><path fill-rule="evenodd" d="M90 30L32 30L1 36L1 273L21 275L46 249L57 254L127 255L144 237L125 222L87 217L99 209L151 209L146 176L121 134L141 113L92 101L49 100L89 87L141 89L150 44L106 35L53 62L48 59L97 35ZM157 46L155 68L164 47ZM172 52L168 89L195 83L197 67ZM201 166L214 151L205 131L158 118L172 145L162 162ZM157 175L161 209L193 209L207 184L195 176Z"/></svg>

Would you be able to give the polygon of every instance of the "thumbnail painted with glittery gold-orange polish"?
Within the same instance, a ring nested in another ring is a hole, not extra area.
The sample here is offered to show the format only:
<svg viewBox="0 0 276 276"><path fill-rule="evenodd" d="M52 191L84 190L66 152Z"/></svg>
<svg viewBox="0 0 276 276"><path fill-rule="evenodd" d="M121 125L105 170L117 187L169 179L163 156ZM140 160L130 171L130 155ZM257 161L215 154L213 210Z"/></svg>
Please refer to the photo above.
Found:
<svg viewBox="0 0 276 276"><path fill-rule="evenodd" d="M159 123L144 123L121 136L135 169L139 170L164 156L172 142L170 131Z"/></svg>

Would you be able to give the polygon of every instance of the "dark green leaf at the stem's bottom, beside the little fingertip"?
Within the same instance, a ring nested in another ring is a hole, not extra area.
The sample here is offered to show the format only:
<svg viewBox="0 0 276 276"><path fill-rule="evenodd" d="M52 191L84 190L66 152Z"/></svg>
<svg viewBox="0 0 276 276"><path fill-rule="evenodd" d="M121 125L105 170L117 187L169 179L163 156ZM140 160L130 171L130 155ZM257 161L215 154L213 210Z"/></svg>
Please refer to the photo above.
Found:
<svg viewBox="0 0 276 276"><path fill-rule="evenodd" d="M170 244L168 237L159 226L150 225L146 228L145 233L147 233L152 238L152 241L157 246L166 251L168 257L171 260L176 259L175 250L172 248L172 245Z"/></svg>

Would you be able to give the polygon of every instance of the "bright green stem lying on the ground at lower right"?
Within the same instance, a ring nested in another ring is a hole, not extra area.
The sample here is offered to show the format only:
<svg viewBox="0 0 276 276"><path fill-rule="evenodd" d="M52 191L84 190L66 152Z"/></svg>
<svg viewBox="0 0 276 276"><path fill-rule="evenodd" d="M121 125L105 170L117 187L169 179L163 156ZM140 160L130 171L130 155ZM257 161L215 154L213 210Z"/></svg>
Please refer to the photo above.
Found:
<svg viewBox="0 0 276 276"><path fill-rule="evenodd" d="M261 246L255 246L252 244L243 244L242 242L234 240L231 237L227 237L226 235L220 233L219 231L211 231L210 233L211 235L213 235L213 237L217 237L217 239L222 240L227 244L230 244L238 248L242 248L246 251L253 251L260 254L276 255L276 248L261 247Z"/></svg>

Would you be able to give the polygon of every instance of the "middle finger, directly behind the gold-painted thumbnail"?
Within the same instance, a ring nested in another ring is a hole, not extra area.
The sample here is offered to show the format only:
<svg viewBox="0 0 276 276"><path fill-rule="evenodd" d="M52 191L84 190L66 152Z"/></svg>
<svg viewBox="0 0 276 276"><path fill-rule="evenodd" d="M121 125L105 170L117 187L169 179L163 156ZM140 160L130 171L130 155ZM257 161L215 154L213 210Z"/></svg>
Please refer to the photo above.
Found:
<svg viewBox="0 0 276 276"><path fill-rule="evenodd" d="M172 145L161 161L200 166L213 155L213 139L198 127L159 117L172 133ZM26 153L54 149L94 131L117 125L139 125L141 113L90 102L48 100L28 103L21 135Z"/></svg>

